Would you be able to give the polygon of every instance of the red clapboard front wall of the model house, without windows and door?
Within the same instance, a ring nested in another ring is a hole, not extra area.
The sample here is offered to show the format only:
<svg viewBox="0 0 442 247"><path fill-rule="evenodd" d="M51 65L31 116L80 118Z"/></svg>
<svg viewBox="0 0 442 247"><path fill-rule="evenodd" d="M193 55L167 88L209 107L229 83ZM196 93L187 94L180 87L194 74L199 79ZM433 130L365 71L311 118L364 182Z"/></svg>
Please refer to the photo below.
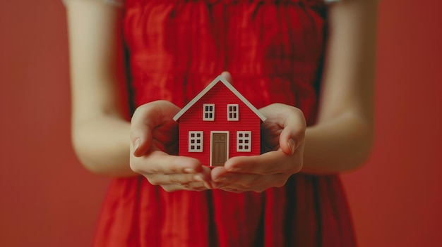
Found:
<svg viewBox="0 0 442 247"><path fill-rule="evenodd" d="M215 104L215 120L203 121L203 104ZM227 121L227 104L238 104L239 120ZM210 165L210 132L229 131L229 158L261 153L261 120L222 82L208 91L179 118L179 155L198 158ZM189 152L189 131L203 131L203 152ZM237 131L251 131L251 152L237 152Z"/></svg>

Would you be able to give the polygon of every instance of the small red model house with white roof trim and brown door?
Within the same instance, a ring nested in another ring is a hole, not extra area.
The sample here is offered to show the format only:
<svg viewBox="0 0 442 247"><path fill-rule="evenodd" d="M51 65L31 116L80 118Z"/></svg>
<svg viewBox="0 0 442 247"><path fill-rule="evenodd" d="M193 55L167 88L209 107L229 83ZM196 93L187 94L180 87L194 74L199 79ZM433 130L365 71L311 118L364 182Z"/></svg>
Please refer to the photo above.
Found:
<svg viewBox="0 0 442 247"><path fill-rule="evenodd" d="M234 156L261 153L264 115L221 75L174 120L179 122L179 155L197 158L203 165L220 166Z"/></svg>

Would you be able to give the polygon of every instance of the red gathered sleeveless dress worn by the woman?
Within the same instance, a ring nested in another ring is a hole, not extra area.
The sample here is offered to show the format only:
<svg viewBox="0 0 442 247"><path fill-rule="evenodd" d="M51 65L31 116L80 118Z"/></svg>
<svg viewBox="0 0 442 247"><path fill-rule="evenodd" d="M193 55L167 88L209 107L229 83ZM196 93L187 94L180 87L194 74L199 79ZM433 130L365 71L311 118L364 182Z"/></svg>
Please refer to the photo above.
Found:
<svg viewBox="0 0 442 247"><path fill-rule="evenodd" d="M124 34L136 106L183 107L220 72L261 108L316 118L325 46L323 0L126 0ZM168 193L114 179L94 246L355 246L336 175L297 174L261 194Z"/></svg>

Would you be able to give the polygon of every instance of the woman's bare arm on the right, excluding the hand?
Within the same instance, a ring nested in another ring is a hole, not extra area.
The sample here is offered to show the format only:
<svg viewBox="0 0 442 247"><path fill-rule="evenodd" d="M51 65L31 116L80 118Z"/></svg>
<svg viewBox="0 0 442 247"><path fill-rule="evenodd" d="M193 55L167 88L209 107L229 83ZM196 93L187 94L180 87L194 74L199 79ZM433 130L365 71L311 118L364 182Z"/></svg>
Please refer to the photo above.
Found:
<svg viewBox="0 0 442 247"><path fill-rule="evenodd" d="M306 129L303 172L352 170L371 152L377 7L376 0L342 0L329 7L318 122Z"/></svg>

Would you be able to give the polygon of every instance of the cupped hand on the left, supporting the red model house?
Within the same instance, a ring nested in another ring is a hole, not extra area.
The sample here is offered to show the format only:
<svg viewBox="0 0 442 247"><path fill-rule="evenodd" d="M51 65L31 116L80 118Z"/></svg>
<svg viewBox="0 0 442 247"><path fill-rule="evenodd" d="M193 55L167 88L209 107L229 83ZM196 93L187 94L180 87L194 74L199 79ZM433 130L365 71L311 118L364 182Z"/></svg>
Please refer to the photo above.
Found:
<svg viewBox="0 0 442 247"><path fill-rule="evenodd" d="M210 168L195 158L177 156L179 107L169 101L140 106L131 120L131 169L165 191L203 191L210 186Z"/></svg>

